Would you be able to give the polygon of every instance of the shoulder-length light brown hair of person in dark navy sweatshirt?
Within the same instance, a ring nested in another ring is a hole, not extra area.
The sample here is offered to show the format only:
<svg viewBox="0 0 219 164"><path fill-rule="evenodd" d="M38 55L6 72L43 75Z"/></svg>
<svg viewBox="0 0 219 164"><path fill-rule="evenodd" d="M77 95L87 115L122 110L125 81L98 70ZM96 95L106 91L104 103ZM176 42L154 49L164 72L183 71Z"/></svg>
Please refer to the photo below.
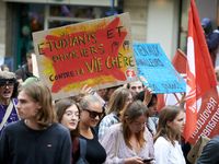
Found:
<svg viewBox="0 0 219 164"><path fill-rule="evenodd" d="M35 115L36 122L41 128L58 122L57 115L51 104L51 93L43 82L32 82L19 89L19 93L25 92L34 102L42 105Z"/></svg>

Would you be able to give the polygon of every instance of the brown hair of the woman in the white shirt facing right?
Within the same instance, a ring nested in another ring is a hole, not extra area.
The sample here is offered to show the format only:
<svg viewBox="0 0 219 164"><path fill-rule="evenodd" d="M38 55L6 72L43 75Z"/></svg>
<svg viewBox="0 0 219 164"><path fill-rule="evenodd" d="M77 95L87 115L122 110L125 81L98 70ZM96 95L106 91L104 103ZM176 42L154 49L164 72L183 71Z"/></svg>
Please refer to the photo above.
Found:
<svg viewBox="0 0 219 164"><path fill-rule="evenodd" d="M172 129L166 125L168 121L173 121L181 112L184 112L184 109L174 105L169 105L161 109L153 142L155 142L159 137L163 137L168 141L171 141L173 145L175 145L174 140L181 143L181 134L177 133L176 137L174 137Z"/></svg>

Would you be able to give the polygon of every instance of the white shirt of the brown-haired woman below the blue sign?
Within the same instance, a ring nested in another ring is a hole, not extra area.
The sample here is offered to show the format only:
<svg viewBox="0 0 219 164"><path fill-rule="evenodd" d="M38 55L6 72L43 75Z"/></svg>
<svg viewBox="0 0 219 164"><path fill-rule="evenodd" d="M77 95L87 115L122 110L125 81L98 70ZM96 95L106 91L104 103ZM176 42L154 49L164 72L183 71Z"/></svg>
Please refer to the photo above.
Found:
<svg viewBox="0 0 219 164"><path fill-rule="evenodd" d="M154 155L155 164L185 164L178 141L175 141L175 147L173 147L170 141L159 137L154 143Z"/></svg>

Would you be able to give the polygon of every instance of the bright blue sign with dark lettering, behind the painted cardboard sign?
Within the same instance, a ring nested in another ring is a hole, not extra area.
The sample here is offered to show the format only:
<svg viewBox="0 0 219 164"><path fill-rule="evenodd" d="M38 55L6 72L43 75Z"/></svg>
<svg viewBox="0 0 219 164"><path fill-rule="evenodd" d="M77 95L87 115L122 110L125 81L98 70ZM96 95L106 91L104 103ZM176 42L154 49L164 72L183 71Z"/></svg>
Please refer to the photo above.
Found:
<svg viewBox="0 0 219 164"><path fill-rule="evenodd" d="M185 92L186 83L160 44L134 43L138 77L153 93Z"/></svg>

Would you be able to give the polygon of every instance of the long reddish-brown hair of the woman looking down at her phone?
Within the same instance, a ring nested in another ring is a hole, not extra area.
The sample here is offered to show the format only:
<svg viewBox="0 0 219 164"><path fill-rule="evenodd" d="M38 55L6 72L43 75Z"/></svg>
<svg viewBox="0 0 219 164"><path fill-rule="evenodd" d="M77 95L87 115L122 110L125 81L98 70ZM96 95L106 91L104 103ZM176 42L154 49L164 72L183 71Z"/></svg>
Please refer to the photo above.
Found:
<svg viewBox="0 0 219 164"><path fill-rule="evenodd" d="M140 101L131 102L122 112L122 127L123 127L124 139L126 145L130 149L132 149L131 144L129 143L131 132L128 126L132 124L140 116L146 116L147 118L149 117L148 107ZM128 122L127 119L129 120ZM141 148L143 148L143 142L147 142L146 139L143 138L143 131L145 127L141 131L139 131L136 134L137 140Z"/></svg>

